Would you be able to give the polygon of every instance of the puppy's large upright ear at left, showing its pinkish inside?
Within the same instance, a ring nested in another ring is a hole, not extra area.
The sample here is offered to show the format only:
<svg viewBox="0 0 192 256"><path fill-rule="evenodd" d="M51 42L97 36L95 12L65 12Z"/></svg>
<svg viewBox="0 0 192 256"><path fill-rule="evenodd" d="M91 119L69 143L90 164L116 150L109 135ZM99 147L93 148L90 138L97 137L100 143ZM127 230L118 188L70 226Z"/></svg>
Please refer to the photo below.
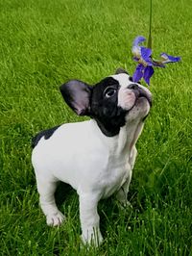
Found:
<svg viewBox="0 0 192 256"><path fill-rule="evenodd" d="M60 86L60 92L68 106L77 115L88 115L91 87L79 80L71 80Z"/></svg>

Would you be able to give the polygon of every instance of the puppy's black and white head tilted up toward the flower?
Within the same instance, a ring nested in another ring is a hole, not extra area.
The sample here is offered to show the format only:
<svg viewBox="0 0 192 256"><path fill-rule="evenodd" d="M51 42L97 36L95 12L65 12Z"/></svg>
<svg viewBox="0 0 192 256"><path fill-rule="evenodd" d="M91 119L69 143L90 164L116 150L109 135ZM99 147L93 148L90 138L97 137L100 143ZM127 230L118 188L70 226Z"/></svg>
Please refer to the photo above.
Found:
<svg viewBox="0 0 192 256"><path fill-rule="evenodd" d="M122 69L95 86L71 80L60 86L60 92L77 115L94 118L108 137L117 135L129 121L144 120L152 103L150 90L133 83Z"/></svg>

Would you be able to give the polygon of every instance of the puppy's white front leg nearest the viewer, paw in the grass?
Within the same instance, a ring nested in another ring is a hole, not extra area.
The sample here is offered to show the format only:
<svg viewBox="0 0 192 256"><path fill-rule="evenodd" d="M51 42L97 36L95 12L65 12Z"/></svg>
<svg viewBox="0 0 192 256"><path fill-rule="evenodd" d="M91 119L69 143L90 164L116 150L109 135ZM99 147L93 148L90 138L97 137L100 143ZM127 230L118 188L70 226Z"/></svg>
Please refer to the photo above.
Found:
<svg viewBox="0 0 192 256"><path fill-rule="evenodd" d="M99 196L92 193L80 194L80 219L82 240L85 244L98 246L103 241L99 227L97 205Z"/></svg>

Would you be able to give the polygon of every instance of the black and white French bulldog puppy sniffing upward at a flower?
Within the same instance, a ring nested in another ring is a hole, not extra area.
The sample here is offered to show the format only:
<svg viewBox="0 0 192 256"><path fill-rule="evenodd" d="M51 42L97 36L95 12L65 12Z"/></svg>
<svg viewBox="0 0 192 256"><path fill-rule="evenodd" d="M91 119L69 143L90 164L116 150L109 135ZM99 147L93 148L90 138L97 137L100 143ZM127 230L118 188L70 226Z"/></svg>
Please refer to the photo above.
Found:
<svg viewBox="0 0 192 256"><path fill-rule="evenodd" d="M82 240L98 245L103 240L99 200L115 193L122 204L129 204L135 143L150 111L152 94L122 70L93 87L72 80L60 91L77 115L91 119L62 124L33 139L40 206L48 225L60 225L64 217L54 193L58 181L70 184L79 194Z"/></svg>

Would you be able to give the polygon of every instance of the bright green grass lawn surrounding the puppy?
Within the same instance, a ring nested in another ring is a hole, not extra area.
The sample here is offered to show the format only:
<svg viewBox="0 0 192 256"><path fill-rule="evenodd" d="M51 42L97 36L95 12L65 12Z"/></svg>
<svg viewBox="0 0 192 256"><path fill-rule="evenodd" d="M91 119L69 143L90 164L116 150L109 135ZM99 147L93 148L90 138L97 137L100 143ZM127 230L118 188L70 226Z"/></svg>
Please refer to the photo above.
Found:
<svg viewBox="0 0 192 256"><path fill-rule="evenodd" d="M156 70L154 107L137 143L132 209L112 198L99 205L105 242L81 248L78 197L60 206L66 221L46 226L38 207L31 138L79 121L59 86L94 84L123 66L132 74L132 39L148 35L144 0L4 0L0 2L0 254L192 255L192 5L154 0L154 52L180 64Z"/></svg>

